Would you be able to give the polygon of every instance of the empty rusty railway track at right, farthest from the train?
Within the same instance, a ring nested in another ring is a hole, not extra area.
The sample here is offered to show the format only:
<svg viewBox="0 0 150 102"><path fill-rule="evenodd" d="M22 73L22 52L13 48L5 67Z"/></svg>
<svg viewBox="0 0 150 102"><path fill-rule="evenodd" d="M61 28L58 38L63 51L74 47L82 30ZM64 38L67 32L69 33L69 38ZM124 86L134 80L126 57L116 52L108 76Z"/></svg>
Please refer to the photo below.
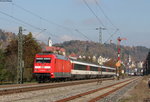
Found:
<svg viewBox="0 0 150 102"><path fill-rule="evenodd" d="M80 93L71 97L67 97L64 99L57 100L56 102L96 102L98 100L101 100L102 98L112 94L113 92L125 87L126 85L132 83L133 81L136 81L137 78L125 80L122 82L118 82L112 85L108 85L102 88L94 89L88 92Z"/></svg>

